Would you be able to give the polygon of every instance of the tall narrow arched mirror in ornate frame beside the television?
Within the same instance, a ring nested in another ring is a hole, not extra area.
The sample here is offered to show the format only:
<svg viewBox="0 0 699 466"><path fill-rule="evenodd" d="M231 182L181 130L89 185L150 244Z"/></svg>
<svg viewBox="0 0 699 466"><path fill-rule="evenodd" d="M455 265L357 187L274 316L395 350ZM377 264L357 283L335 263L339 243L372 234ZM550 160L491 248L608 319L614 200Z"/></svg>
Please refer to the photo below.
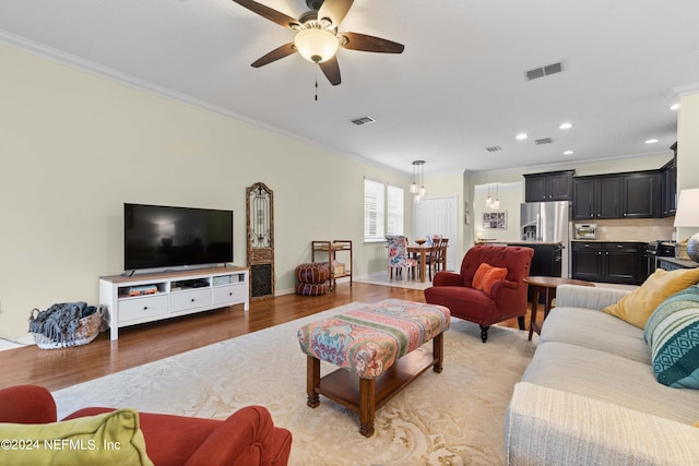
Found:
<svg viewBox="0 0 699 466"><path fill-rule="evenodd" d="M274 193L264 183L246 189L250 300L274 296Z"/></svg>

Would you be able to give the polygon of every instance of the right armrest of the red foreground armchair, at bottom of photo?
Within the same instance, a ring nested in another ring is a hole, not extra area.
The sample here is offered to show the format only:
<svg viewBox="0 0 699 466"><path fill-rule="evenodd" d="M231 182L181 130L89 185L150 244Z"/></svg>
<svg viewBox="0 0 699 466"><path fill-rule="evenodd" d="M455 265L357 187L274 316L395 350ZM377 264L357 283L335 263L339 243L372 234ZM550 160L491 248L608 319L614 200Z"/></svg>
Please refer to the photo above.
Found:
<svg viewBox="0 0 699 466"><path fill-rule="evenodd" d="M280 441L279 431L288 433L288 441ZM286 464L292 435L284 431L274 427L266 408L246 406L230 415L209 435L189 458L187 466Z"/></svg>

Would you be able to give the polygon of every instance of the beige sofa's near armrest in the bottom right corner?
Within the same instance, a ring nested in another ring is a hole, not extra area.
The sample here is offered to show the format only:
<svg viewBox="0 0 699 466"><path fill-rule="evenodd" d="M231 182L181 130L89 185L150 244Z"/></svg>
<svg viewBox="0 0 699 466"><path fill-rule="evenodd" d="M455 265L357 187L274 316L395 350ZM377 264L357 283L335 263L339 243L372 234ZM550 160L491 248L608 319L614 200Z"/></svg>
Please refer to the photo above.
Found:
<svg viewBox="0 0 699 466"><path fill-rule="evenodd" d="M699 429L520 382L506 414L505 455L507 465L687 465L699 457Z"/></svg>

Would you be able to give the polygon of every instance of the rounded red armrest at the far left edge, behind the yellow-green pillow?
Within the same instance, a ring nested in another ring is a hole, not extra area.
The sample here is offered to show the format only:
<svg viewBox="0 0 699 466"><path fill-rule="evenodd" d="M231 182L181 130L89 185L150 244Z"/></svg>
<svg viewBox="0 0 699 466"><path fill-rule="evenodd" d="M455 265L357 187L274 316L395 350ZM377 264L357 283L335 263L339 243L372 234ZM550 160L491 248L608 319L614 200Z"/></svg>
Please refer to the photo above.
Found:
<svg viewBox="0 0 699 466"><path fill-rule="evenodd" d="M0 422L56 422L56 402L51 393L37 385L16 385L0 390Z"/></svg>

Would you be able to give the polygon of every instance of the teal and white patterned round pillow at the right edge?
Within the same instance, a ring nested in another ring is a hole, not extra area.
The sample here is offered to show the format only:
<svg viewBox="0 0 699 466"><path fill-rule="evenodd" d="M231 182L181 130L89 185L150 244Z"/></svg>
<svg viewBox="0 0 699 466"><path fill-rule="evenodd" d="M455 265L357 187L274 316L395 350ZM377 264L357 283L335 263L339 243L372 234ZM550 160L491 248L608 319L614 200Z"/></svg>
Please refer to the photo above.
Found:
<svg viewBox="0 0 699 466"><path fill-rule="evenodd" d="M664 300L645 323L655 379L675 389L699 389L699 286Z"/></svg>

